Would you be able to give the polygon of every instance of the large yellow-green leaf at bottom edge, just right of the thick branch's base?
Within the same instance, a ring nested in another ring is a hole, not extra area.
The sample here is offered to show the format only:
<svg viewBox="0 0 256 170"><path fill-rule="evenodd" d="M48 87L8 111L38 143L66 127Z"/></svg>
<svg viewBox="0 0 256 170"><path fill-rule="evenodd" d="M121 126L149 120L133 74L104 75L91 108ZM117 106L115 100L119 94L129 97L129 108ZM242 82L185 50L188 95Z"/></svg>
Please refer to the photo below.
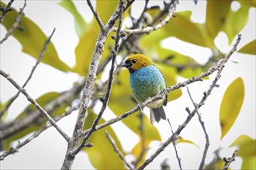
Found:
<svg viewBox="0 0 256 170"><path fill-rule="evenodd" d="M95 120L96 117L97 115L94 114L92 110L88 110L88 117L86 117L85 129L91 128L92 122ZM99 124L102 124L104 122L105 121L101 119L99 121ZM88 141L93 144L93 147L84 148L83 151L86 151L90 162L97 169L124 169L122 160L112 148L112 145L106 138L106 134L104 133L104 131L107 131L112 136L112 138L116 142L117 147L119 148L119 151L124 154L119 139L117 138L115 132L110 126L99 131L95 131L95 133L92 134L91 138Z"/></svg>

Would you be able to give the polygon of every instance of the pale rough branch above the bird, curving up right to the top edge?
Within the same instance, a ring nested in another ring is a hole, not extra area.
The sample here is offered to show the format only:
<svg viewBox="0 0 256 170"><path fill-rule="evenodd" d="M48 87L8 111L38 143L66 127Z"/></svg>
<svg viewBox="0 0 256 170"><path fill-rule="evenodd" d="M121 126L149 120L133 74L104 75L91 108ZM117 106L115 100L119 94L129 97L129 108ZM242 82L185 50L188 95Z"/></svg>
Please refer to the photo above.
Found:
<svg viewBox="0 0 256 170"><path fill-rule="evenodd" d="M173 4L171 5L171 8L168 11L168 15L165 17L164 20L162 20L157 26L147 26L146 28L139 28L139 29L122 29L121 32L124 32L128 35L130 34L141 34L141 33L149 33L151 31L157 31L157 29L161 29L161 27L165 26L171 17L173 16L175 10L176 10L176 5L178 4L178 0L175 0ZM112 28L112 31L116 32L116 28Z"/></svg>

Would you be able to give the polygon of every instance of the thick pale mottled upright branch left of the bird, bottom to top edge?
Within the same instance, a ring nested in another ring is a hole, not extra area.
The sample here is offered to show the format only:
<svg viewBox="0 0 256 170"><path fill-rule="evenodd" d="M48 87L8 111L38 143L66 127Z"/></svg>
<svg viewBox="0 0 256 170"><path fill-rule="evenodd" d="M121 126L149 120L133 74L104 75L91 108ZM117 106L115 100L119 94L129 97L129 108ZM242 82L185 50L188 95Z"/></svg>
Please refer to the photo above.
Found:
<svg viewBox="0 0 256 170"><path fill-rule="evenodd" d="M68 143L67 153L64 158L64 163L61 169L71 169L71 165L74 162L75 155L78 153L78 151L81 150L81 148L85 147L84 145L81 145L81 143L85 144L86 141L88 141L88 138L91 136L92 132L95 131L93 127L98 123L97 121L99 121L98 119L101 117L101 115L99 115L99 117L95 119L94 123L92 124L92 129L89 130L90 133L88 133L85 136L86 138L84 138L81 142L80 137L85 124L85 117L88 110L88 104L92 96L92 90L94 87L96 73L99 66L99 60L101 59L102 53L104 51L106 38L109 35L109 32L111 32L112 27L115 25L116 20L119 19L119 13L123 12L125 8L128 8L128 6L131 5L130 3L127 3L126 7L123 8L123 5L120 5L120 4L124 4L125 2L126 2L125 0L121 0L121 2L119 2L119 5L117 6L115 12L113 12L109 21L106 23L106 28L104 30L101 29L101 31L99 32L99 37L95 45L95 51L92 56L92 62L88 70L88 76L86 78L85 88L83 90L82 97L81 97L81 104L80 104L77 122L75 124L71 140ZM116 53L113 53L113 55L116 55ZM109 81L112 81L112 80L109 80ZM102 107L102 114L104 110L105 109Z"/></svg>

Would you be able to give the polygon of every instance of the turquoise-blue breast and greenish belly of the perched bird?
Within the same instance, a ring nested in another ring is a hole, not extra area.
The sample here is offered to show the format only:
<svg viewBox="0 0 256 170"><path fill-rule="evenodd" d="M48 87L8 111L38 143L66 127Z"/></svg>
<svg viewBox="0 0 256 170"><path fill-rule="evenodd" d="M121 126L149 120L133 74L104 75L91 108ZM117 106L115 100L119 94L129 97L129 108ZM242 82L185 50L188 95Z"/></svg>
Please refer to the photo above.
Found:
<svg viewBox="0 0 256 170"><path fill-rule="evenodd" d="M146 66L130 74L130 87L137 102L154 97L165 88L164 77L156 66Z"/></svg>

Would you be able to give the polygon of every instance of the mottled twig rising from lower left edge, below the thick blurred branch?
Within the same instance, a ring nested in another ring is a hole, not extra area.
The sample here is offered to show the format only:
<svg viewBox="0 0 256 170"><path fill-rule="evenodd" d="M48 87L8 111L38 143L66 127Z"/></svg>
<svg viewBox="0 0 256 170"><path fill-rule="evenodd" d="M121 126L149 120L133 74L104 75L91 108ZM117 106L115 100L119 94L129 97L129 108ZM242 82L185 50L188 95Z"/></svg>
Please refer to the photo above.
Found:
<svg viewBox="0 0 256 170"><path fill-rule="evenodd" d="M71 114L74 110L78 110L79 105L76 105L74 107L71 107L69 110L67 110L63 115L59 117L54 117L54 121L60 121L63 117L66 117L67 115ZM50 128L52 124L45 124L42 128L40 128L39 131L35 131L29 138L27 138L25 141L19 142L18 145L16 145L13 148L10 148L8 151L5 151L2 155L0 155L0 161L4 160L5 157L14 154L19 151L19 148L22 148L23 146L27 145L30 141L33 141L33 139L37 138L40 134L42 134L43 131L47 130L47 128Z"/></svg>

